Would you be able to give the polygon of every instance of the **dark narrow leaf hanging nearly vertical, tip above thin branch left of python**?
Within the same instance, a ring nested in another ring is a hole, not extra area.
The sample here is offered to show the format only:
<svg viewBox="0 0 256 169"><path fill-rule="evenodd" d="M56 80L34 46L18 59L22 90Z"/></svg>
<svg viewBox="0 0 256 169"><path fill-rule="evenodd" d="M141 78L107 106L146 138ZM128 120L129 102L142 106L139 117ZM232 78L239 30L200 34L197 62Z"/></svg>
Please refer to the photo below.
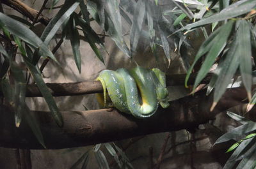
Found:
<svg viewBox="0 0 256 169"><path fill-rule="evenodd" d="M70 43L72 46L72 51L74 54L74 58L76 61L76 66L77 69L79 71L79 73L81 73L81 54L80 54L80 40L79 40L79 33L78 30L76 28L76 22L74 17L70 17L70 20L68 22L68 31L69 31L69 36L70 36Z"/></svg>

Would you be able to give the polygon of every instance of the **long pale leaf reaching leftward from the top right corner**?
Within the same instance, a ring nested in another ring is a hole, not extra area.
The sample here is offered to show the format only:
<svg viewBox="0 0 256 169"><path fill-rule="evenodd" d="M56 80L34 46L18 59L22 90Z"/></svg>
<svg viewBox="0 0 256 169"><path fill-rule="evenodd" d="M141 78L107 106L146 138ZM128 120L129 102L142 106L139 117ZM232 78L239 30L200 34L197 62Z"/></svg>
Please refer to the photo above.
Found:
<svg viewBox="0 0 256 169"><path fill-rule="evenodd" d="M255 0L241 0L237 1L234 4L231 4L227 8L220 11L220 13L216 13L215 15L211 15L211 17L203 18L193 24L188 24L187 26L179 29L178 31L189 30L193 27L204 26L206 24L211 24L214 22L219 22L221 20L226 20L228 18L237 17L239 15L243 15L244 13L248 13L253 8L256 7ZM178 32L176 31L176 32Z"/></svg>

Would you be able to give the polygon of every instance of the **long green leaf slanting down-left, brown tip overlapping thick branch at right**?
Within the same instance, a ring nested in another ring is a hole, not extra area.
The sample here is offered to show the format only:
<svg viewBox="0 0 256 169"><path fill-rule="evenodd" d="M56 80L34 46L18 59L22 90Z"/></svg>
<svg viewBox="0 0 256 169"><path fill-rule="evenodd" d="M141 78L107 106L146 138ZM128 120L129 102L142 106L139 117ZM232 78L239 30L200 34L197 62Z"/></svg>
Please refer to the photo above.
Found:
<svg viewBox="0 0 256 169"><path fill-rule="evenodd" d="M227 52L225 60L219 65L220 73L218 74L218 78L215 83L214 105L218 103L221 96L226 91L228 84L231 82L231 78L234 76L239 66L239 59L241 55L237 52L238 44L239 38L236 37Z"/></svg>

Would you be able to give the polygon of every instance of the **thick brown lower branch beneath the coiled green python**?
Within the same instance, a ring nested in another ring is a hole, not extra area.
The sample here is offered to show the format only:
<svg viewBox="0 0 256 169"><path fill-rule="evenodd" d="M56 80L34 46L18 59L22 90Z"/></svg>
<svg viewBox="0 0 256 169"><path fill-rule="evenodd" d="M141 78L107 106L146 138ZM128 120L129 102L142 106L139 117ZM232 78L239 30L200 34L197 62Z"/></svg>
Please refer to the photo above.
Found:
<svg viewBox="0 0 256 169"><path fill-rule="evenodd" d="M244 89L227 91L214 109L209 112L212 97L205 91L194 96L170 102L170 108L159 108L153 117L136 119L117 110L102 109L81 112L61 112L64 125L58 127L49 112L37 115L48 149L79 147L100 142L110 142L134 136L196 128L227 108L241 104L246 98ZM42 149L26 121L15 128L13 112L0 106L0 146Z"/></svg>

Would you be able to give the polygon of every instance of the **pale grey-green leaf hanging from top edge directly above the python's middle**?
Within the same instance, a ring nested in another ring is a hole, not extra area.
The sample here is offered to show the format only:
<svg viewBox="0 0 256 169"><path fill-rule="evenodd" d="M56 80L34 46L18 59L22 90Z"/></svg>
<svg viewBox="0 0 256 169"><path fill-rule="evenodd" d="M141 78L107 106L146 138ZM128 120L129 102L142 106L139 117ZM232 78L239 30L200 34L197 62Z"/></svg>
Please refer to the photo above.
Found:
<svg viewBox="0 0 256 169"><path fill-rule="evenodd" d="M143 20L145 17L145 10L146 10L145 1L139 0L136 3L136 8L134 10L134 16L136 17L132 18L132 27L131 27L131 35L130 35L130 45L131 45L132 52L136 52L136 47L138 45Z"/></svg>

